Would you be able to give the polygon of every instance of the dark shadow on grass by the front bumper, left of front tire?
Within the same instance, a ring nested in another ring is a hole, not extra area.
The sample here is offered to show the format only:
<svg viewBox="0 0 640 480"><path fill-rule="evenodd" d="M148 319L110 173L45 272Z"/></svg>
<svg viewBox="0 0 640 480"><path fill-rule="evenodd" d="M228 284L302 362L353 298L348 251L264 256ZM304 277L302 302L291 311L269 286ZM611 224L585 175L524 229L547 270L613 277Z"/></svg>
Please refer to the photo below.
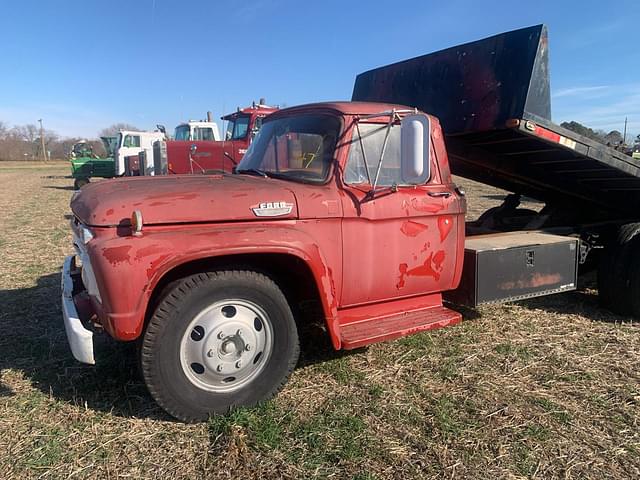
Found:
<svg viewBox="0 0 640 480"><path fill-rule="evenodd" d="M12 369L46 396L122 417L168 420L138 373L136 346L94 335L96 365L71 355L60 306L60 274L34 287L0 290L0 370ZM12 392L2 384L0 396Z"/></svg>

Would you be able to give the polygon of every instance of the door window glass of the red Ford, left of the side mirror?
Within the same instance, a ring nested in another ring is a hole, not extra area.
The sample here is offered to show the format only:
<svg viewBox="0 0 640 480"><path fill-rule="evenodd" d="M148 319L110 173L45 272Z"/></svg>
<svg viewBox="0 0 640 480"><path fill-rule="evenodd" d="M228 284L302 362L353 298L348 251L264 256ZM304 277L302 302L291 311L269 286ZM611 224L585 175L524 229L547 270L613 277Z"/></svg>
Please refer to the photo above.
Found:
<svg viewBox="0 0 640 480"><path fill-rule="evenodd" d="M359 133L358 133L359 130ZM387 134L387 124L361 123L353 129L349 147L349 158L345 169L345 183L373 185L382 155L382 146ZM367 175L367 167L369 175ZM369 180L370 179L370 180ZM392 125L378 176L379 186L401 185L400 169L400 125Z"/></svg>

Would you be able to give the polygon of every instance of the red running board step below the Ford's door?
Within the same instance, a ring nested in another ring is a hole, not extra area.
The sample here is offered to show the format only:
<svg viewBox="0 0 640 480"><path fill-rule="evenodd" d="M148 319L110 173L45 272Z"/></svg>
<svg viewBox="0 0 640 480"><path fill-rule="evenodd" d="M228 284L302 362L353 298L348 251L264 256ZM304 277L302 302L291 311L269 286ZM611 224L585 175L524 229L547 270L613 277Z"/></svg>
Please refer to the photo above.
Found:
<svg viewBox="0 0 640 480"><path fill-rule="evenodd" d="M455 325L461 320L460 313L437 305L341 324L342 348L350 350L370 343Z"/></svg>

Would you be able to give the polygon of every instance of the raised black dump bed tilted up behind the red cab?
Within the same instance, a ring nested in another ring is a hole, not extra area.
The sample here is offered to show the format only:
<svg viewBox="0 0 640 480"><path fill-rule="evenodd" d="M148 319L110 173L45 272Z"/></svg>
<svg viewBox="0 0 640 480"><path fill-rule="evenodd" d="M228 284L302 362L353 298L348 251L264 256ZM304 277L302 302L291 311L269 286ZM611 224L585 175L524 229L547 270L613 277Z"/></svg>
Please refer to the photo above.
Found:
<svg viewBox="0 0 640 480"><path fill-rule="evenodd" d="M640 159L551 121L547 29L495 35L357 76L352 100L440 119L453 173L597 222L640 217Z"/></svg>

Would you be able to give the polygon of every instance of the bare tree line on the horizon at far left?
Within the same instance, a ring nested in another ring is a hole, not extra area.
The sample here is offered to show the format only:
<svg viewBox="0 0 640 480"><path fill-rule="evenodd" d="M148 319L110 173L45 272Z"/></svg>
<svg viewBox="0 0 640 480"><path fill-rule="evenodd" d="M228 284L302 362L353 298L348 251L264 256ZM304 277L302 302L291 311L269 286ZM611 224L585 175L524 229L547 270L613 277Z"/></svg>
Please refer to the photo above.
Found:
<svg viewBox="0 0 640 480"><path fill-rule="evenodd" d="M115 136L120 130L139 130L127 123L115 123L100 131L100 137ZM105 156L106 152L100 139L85 139L81 137L61 137L53 130L44 129L43 135L47 157L51 159L67 158L74 143L87 140L93 146L98 156ZM35 124L14 125L0 121L0 160L40 160L42 142L40 127Z"/></svg>

